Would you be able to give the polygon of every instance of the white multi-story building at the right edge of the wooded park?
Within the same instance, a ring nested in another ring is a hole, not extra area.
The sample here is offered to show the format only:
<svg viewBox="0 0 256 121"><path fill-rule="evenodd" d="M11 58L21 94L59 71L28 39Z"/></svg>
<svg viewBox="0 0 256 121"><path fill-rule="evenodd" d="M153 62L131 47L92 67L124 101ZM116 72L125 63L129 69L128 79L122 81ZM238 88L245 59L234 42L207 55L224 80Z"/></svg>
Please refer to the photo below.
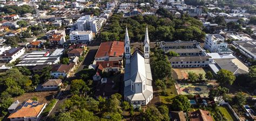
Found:
<svg viewBox="0 0 256 121"><path fill-rule="evenodd" d="M205 38L204 48L208 51L215 53L218 48L227 47L227 43L224 42L225 38L220 34L207 34Z"/></svg>

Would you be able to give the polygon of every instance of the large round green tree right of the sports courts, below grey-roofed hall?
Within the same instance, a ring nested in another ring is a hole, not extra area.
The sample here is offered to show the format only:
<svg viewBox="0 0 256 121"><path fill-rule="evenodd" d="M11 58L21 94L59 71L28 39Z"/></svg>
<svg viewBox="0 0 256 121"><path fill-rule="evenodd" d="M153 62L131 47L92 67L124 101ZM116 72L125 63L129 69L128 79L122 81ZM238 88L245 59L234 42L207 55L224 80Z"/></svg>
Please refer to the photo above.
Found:
<svg viewBox="0 0 256 121"><path fill-rule="evenodd" d="M216 79L217 79L217 82L220 83L221 85L225 85L225 84L232 85L235 80L235 76L229 70L220 69L219 72L217 72Z"/></svg>

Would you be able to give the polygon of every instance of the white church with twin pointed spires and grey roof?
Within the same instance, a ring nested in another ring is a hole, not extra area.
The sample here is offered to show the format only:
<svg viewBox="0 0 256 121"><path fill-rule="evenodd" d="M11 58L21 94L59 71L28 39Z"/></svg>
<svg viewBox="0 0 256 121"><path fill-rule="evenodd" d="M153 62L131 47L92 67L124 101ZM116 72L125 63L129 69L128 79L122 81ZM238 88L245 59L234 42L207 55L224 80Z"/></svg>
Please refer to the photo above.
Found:
<svg viewBox="0 0 256 121"><path fill-rule="evenodd" d="M150 40L147 27L144 40L144 53L137 49L131 54L127 27L125 31L124 50L124 99L130 104L146 105L153 98L150 68Z"/></svg>

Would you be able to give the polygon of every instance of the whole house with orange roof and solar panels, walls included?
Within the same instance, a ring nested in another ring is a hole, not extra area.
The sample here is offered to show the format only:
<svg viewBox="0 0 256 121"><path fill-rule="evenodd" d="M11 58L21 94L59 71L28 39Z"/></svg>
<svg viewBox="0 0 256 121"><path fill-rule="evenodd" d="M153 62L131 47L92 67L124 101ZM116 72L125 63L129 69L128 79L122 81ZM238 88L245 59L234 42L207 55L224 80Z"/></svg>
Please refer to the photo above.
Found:
<svg viewBox="0 0 256 121"><path fill-rule="evenodd" d="M19 105L9 116L11 121L15 120L35 120L39 121L46 103L39 103L28 99Z"/></svg>

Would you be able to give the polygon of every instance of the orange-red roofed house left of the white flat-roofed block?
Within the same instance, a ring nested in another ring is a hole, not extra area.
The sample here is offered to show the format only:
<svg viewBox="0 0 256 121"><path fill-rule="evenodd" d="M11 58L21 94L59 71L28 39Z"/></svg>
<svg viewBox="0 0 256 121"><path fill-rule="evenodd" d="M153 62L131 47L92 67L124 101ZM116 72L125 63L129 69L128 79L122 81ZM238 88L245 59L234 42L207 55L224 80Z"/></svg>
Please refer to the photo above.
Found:
<svg viewBox="0 0 256 121"><path fill-rule="evenodd" d="M51 46L59 46L63 45L64 42L66 42L66 39L63 34L53 34L49 41Z"/></svg>

